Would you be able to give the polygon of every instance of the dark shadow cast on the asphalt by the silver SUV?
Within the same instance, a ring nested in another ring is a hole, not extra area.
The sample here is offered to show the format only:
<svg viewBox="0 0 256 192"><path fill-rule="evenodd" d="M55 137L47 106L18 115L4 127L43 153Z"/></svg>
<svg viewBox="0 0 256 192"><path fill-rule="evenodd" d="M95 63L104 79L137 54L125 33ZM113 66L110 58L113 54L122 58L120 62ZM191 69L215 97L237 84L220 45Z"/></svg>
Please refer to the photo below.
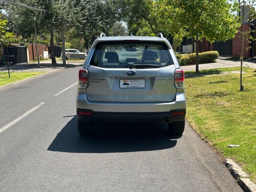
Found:
<svg viewBox="0 0 256 192"><path fill-rule="evenodd" d="M117 153L169 149L182 135L168 135L167 125L151 124L95 124L94 134L82 136L74 116L57 134L48 151L68 153Z"/></svg>

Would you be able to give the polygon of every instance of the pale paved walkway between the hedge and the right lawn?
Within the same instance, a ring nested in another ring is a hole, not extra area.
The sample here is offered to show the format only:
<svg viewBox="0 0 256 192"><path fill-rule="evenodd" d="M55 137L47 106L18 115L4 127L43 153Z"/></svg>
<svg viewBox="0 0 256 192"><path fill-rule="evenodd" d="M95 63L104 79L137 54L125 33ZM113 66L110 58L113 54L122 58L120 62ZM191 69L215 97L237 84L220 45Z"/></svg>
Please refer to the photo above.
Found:
<svg viewBox="0 0 256 192"><path fill-rule="evenodd" d="M226 67L240 67L241 62L237 60L227 60L225 57L219 57L216 63L206 63L199 64L199 70L201 69L216 69L216 68L226 68ZM249 62L244 62L243 66L249 65L251 68L256 69L256 60L250 60ZM196 65L181 66L184 71L195 71Z"/></svg>

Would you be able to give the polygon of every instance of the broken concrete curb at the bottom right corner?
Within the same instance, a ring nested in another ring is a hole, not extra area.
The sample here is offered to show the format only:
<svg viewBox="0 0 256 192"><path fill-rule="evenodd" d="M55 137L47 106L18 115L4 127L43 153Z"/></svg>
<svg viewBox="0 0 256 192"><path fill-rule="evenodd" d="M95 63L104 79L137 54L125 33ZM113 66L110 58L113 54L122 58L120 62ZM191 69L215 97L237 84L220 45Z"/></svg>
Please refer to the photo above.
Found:
<svg viewBox="0 0 256 192"><path fill-rule="evenodd" d="M232 159L225 159L224 162L233 177L239 181L238 185L240 185L245 192L256 192L256 184L249 179L249 175L243 171L239 165Z"/></svg>

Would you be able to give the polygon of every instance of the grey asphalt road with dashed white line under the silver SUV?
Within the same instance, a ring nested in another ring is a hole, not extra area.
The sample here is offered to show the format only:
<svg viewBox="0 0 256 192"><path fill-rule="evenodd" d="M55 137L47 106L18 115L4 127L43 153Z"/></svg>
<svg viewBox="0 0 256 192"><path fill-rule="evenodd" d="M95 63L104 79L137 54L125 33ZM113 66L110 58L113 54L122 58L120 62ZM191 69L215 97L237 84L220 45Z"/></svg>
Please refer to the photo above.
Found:
<svg viewBox="0 0 256 192"><path fill-rule="evenodd" d="M0 90L0 191L243 191L187 123L182 136L165 124L79 135L76 85L58 94L79 68Z"/></svg>

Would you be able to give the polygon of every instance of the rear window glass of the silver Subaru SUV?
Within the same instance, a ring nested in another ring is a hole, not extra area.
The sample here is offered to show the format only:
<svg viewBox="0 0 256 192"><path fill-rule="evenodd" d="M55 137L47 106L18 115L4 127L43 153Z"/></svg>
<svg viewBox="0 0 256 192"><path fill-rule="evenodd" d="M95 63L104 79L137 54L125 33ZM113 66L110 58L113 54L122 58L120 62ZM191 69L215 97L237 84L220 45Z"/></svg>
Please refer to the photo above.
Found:
<svg viewBox="0 0 256 192"><path fill-rule="evenodd" d="M165 43L120 42L97 45L89 64L102 68L154 68L172 65L173 61Z"/></svg>

